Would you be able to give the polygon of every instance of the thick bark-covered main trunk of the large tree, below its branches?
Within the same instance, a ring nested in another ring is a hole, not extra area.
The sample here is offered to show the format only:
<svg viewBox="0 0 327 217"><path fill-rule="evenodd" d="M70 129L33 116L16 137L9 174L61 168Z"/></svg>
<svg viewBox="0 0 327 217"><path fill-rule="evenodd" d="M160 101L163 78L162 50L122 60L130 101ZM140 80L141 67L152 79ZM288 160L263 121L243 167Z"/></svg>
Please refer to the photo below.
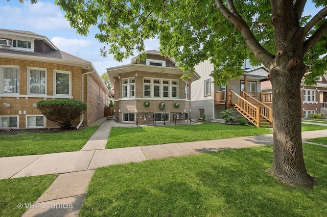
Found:
<svg viewBox="0 0 327 217"><path fill-rule="evenodd" d="M286 55L288 56L288 55ZM273 168L271 174L290 185L313 187L302 153L300 84L305 65L300 58L276 57L270 68L273 91Z"/></svg>

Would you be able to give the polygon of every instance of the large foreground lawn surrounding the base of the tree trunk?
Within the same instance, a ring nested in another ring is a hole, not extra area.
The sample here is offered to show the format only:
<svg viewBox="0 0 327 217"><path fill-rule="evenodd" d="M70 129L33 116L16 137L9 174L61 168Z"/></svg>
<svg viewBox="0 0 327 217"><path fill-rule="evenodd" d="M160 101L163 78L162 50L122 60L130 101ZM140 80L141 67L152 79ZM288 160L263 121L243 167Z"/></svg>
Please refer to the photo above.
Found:
<svg viewBox="0 0 327 217"><path fill-rule="evenodd" d="M327 216L326 148L303 144L313 189L266 173L272 152L251 147L99 168L80 216Z"/></svg>

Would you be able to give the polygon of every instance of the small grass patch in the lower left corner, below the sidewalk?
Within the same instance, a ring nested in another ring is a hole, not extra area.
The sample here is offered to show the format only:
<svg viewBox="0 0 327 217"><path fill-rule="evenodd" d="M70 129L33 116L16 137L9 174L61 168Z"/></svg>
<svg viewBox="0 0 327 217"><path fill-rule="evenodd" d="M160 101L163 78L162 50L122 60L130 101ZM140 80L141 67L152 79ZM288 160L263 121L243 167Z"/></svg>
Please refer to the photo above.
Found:
<svg viewBox="0 0 327 217"><path fill-rule="evenodd" d="M21 216L56 179L44 175L0 180L0 216ZM23 205L18 208L18 204Z"/></svg>

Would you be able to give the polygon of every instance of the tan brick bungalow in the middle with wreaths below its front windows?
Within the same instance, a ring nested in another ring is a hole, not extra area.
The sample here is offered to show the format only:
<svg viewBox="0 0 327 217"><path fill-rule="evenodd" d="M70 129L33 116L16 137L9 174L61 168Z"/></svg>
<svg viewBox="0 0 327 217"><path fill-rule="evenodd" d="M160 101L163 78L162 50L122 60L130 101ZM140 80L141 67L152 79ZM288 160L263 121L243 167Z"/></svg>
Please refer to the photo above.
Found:
<svg viewBox="0 0 327 217"><path fill-rule="evenodd" d="M107 68L114 89L114 114L119 122L166 123L188 120L194 73L183 81L183 71L157 50L146 51L145 61ZM155 122L154 122L155 120ZM176 123L176 122L175 122Z"/></svg>

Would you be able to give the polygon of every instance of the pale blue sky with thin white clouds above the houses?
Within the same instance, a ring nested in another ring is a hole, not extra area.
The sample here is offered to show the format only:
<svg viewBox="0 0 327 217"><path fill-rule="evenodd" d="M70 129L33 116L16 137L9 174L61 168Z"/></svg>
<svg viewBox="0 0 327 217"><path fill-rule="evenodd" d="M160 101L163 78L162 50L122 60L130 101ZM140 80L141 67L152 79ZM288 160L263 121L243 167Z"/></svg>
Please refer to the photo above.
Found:
<svg viewBox="0 0 327 217"><path fill-rule="evenodd" d="M38 0L37 4L31 5L29 2L21 4L18 0L0 0L0 29L30 31L45 36L60 50L91 62L100 75L107 71L106 68L130 63L133 57L123 62L115 61L112 55L101 57L100 47L104 44L94 37L98 33L97 27L90 28L87 37L77 34L64 17L65 12L54 2L55 0ZM317 11L308 1L303 14L315 15ZM145 50L158 50L159 40L149 39L145 46Z"/></svg>

